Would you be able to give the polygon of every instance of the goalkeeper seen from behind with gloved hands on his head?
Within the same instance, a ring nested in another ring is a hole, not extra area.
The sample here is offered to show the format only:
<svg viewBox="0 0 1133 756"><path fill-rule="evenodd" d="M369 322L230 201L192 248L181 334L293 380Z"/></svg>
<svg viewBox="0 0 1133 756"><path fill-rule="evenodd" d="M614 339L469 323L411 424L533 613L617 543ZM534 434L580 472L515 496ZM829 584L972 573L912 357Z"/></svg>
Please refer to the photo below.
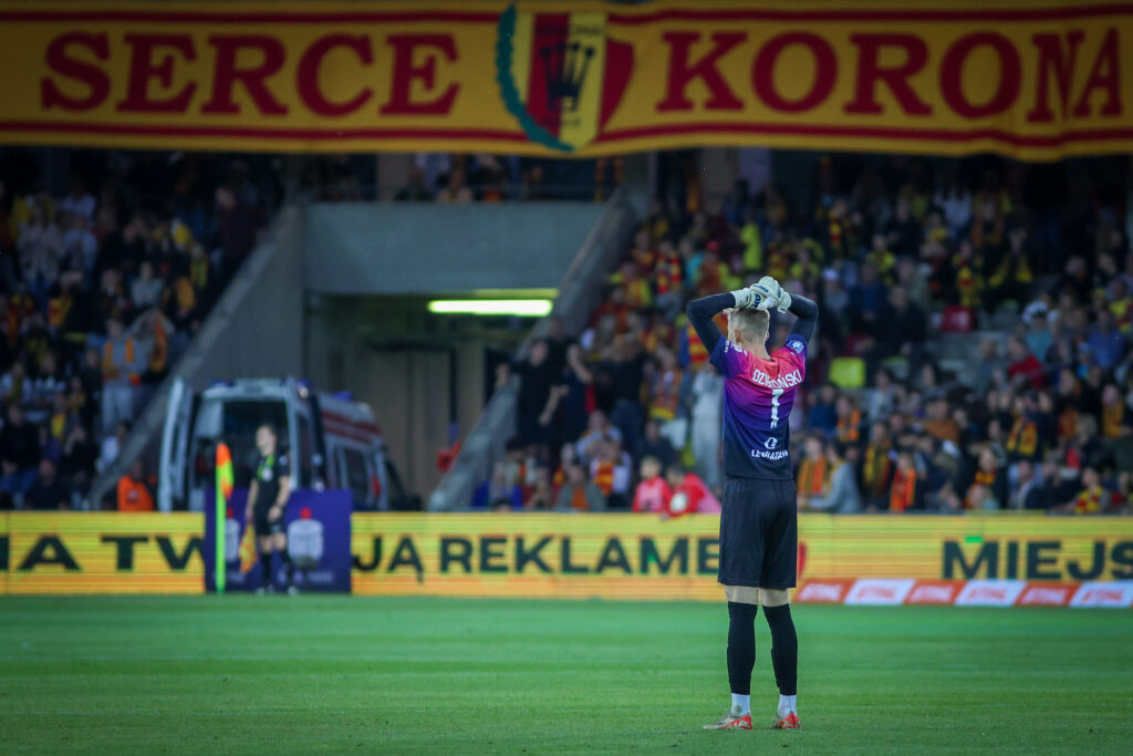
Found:
<svg viewBox="0 0 1133 756"><path fill-rule="evenodd" d="M786 343L767 351L769 309L798 317ZM729 311L727 338L713 317ZM724 376L724 501L719 517L719 577L727 598L727 677L732 706L706 730L751 729L751 670L756 613L772 631L772 665L780 689L777 729L799 728L795 695L799 639L787 588L795 584L799 520L787 448L787 418L807 372L807 343L818 305L783 291L765 275L731 294L689 303L689 321Z"/></svg>

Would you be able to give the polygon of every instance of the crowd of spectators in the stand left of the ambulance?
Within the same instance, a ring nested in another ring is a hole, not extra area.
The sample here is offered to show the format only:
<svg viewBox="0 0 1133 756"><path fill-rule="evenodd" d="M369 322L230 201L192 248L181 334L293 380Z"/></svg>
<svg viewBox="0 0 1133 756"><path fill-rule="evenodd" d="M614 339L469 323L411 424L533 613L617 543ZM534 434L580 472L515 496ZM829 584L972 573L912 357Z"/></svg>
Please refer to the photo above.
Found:
<svg viewBox="0 0 1133 756"><path fill-rule="evenodd" d="M0 509L87 506L278 196L241 160L70 158L53 192L59 171L0 153ZM117 494L110 508L153 509L140 464Z"/></svg>

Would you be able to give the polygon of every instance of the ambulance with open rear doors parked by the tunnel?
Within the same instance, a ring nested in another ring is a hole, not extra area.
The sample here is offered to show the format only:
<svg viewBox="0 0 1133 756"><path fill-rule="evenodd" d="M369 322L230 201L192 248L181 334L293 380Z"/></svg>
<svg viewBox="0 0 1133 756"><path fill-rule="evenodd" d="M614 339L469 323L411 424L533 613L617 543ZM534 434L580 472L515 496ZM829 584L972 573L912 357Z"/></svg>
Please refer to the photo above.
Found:
<svg viewBox="0 0 1133 756"><path fill-rule="evenodd" d="M369 407L292 377L218 382L201 392L177 380L161 436L159 509L204 509L220 441L232 451L236 486L248 487L256 428L265 423L287 450L292 490L349 489L356 511L420 509L420 499L402 487Z"/></svg>

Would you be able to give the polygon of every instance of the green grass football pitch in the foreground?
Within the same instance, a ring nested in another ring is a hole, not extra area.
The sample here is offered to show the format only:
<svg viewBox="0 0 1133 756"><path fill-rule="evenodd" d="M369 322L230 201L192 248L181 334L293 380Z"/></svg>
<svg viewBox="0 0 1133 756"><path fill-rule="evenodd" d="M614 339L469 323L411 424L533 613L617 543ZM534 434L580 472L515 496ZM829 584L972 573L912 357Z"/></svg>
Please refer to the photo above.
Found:
<svg viewBox="0 0 1133 756"><path fill-rule="evenodd" d="M0 753L1133 749L1133 613L795 606L803 729L753 732L721 604L0 600Z"/></svg>

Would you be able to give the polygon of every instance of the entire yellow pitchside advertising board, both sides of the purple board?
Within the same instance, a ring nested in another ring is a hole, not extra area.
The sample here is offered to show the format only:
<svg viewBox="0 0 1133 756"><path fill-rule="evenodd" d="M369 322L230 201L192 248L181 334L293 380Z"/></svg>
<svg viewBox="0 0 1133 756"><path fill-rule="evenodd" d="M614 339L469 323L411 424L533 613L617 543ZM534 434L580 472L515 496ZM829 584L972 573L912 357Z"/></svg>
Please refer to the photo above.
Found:
<svg viewBox="0 0 1133 756"><path fill-rule="evenodd" d="M191 513L0 513L0 594L201 593ZM358 594L696 598L716 584L719 520L690 515L351 518ZM1133 518L799 518L799 581L1133 580Z"/></svg>

